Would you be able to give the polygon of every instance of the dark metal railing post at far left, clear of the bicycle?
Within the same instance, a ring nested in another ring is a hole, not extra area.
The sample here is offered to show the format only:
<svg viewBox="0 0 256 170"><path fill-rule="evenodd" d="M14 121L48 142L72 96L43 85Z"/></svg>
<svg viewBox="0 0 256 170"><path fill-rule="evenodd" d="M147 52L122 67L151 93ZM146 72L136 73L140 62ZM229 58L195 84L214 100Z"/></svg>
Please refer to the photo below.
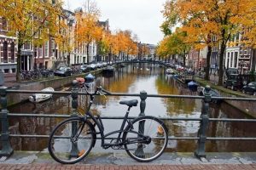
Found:
<svg viewBox="0 0 256 170"><path fill-rule="evenodd" d="M2 150L0 151L0 156L11 156L14 153L14 149L11 147L9 142L9 122L8 122L8 113L7 110L7 98L6 98L6 89L7 87L1 86L0 87L0 95L1 95L1 112L0 112L0 119L2 124L2 134L1 134L1 143L2 143Z"/></svg>

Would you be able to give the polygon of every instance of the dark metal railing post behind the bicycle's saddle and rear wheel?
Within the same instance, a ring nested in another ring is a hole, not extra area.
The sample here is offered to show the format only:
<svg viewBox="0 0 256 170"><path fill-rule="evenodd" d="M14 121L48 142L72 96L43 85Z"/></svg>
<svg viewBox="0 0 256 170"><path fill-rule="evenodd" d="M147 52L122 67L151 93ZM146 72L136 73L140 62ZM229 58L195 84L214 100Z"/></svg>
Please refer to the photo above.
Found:
<svg viewBox="0 0 256 170"><path fill-rule="evenodd" d="M146 108L146 99L147 99L147 92L145 91L142 91L140 92L140 98L141 98L141 103L140 103L140 109L141 109L141 112L139 114L139 116L145 116L145 108ZM144 133L144 121L141 121L139 122L139 130L138 130L138 133L141 133L143 134ZM135 151L135 155L138 156L138 157L144 157L145 154L144 154L144 150L143 150L143 144L139 144L137 146L137 150Z"/></svg>

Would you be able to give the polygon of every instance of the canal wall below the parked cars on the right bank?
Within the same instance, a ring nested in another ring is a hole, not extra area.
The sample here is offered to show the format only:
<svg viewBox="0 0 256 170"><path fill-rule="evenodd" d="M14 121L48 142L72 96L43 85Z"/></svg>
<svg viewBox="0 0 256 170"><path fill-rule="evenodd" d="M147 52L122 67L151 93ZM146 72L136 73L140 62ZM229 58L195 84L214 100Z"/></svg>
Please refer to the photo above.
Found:
<svg viewBox="0 0 256 170"><path fill-rule="evenodd" d="M234 91L228 88L217 86L212 82L205 81L201 78L196 78L196 82L199 82L201 86L205 87L210 85L211 88L217 89L218 92L224 97L234 97L234 98L254 98L252 95L242 94L239 91ZM236 100L225 100L224 102L232 105L237 110L243 112L247 116L256 118L256 107L254 101L236 101Z"/></svg>

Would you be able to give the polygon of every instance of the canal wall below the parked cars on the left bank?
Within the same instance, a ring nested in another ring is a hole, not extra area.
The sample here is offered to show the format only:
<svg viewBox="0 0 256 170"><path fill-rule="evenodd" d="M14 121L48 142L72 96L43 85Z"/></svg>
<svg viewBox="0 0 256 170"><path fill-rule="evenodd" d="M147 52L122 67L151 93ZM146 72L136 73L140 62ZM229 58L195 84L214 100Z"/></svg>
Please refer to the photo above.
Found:
<svg viewBox="0 0 256 170"><path fill-rule="evenodd" d="M102 69L96 70L96 71L90 71L91 74L93 75L98 75L102 73ZM11 89L15 90L35 90L35 91L40 91L44 88L64 88L73 82L73 80L76 77L85 77L89 74L88 73L83 73L79 75L73 75L71 77L54 77L51 79L44 79L44 80L38 80L35 82L20 82L16 84L14 87L11 87ZM28 97L31 94L8 94L7 95L7 103L8 106L10 105L15 105L19 104L20 102L24 102L28 99Z"/></svg>

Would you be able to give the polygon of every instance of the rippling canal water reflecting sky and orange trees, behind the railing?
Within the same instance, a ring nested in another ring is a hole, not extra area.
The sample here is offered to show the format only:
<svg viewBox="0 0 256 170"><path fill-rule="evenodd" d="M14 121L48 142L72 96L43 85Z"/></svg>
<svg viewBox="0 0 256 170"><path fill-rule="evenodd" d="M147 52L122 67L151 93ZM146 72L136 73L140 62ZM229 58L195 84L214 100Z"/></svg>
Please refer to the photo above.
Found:
<svg viewBox="0 0 256 170"><path fill-rule="evenodd" d="M197 95L188 88L165 75L159 65L133 64L126 65L115 71L113 77L98 75L91 88L102 86L114 93L139 94L146 91L148 94L180 94ZM66 88L64 88L66 89ZM124 116L127 107L119 105L119 100L140 99L138 97L117 97L108 96L105 99L97 96L91 111L101 116ZM79 112L84 113L88 104L88 97L79 96ZM11 113L34 113L34 114L69 114L72 112L72 99L68 95L54 95L52 99L39 104L30 102L15 105L9 108ZM130 116L138 116L139 105L131 108ZM158 117L193 117L201 116L201 99L146 99L145 114ZM210 117L215 118L249 118L237 111L232 106L222 103L211 105ZM61 118L26 118L12 117L9 120L10 132L17 134L49 134ZM171 137L196 137L199 129L199 122L193 121L165 121ZM120 120L103 120L105 133L117 130L120 127ZM208 137L255 137L255 124L250 122L210 122L207 130ZM48 139L36 138L12 138L11 145L15 150L46 150ZM218 140L207 141L207 151L256 151L256 142L253 141L230 141ZM166 151L193 152L196 150L195 140L169 140ZM97 142L94 152L116 151L112 149L103 150ZM123 151L123 150L122 150Z"/></svg>

